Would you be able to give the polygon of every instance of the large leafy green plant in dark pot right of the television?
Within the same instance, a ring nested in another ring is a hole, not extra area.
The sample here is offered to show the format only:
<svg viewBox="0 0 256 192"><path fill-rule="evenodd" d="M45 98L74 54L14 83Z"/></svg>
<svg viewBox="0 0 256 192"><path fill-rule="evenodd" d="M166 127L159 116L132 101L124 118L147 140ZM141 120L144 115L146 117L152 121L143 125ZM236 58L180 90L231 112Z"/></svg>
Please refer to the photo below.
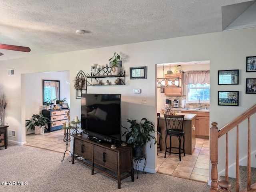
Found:
<svg viewBox="0 0 256 192"><path fill-rule="evenodd" d="M140 123L136 120L128 120L130 127L126 128L122 126L126 131L123 132L122 137L125 138L126 143L130 143L133 147L133 157L143 157L145 155L145 145L150 142L150 148L152 145L152 140L154 145L156 144L156 137L152 133L157 133L154 131L154 124L148 121L146 118L142 118ZM152 140L151 140L152 139Z"/></svg>

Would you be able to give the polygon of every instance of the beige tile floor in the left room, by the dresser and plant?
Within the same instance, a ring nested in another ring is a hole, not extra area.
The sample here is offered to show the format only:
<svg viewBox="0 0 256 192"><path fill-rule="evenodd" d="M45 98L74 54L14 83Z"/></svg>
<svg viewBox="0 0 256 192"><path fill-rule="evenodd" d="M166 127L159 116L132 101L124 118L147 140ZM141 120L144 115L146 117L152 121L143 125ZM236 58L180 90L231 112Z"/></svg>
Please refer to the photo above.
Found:
<svg viewBox="0 0 256 192"><path fill-rule="evenodd" d="M32 147L48 149L63 153L66 151L66 142L63 141L65 135L62 129L52 132L45 132L42 135L34 133L26 135L26 144ZM70 142L68 142L68 150L70 151ZM68 154L69 152L66 152Z"/></svg>

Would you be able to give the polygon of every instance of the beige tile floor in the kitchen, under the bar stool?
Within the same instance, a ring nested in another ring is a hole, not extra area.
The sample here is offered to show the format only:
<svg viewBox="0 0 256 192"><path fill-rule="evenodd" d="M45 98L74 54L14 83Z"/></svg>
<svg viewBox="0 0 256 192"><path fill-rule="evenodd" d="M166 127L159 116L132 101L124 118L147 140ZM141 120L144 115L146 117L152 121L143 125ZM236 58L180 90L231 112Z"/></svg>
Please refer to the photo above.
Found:
<svg viewBox="0 0 256 192"><path fill-rule="evenodd" d="M201 182L208 182L209 178L209 139L196 138L196 146L193 155L181 157L178 154L159 151L157 156L158 173L188 178Z"/></svg>

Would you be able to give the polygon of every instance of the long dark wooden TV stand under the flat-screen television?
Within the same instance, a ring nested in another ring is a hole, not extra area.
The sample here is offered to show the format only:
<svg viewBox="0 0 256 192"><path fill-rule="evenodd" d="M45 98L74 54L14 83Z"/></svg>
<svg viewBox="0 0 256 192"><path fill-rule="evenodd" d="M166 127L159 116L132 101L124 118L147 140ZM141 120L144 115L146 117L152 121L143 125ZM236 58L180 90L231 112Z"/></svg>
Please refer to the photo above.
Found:
<svg viewBox="0 0 256 192"><path fill-rule="evenodd" d="M111 149L111 143L90 141L86 134L82 134L82 136L73 134L71 136L74 137L72 164L74 164L74 160L79 161L92 168L92 175L95 169L118 180L118 189L121 188L121 180L131 176L132 181L134 181L132 147L120 145L116 149ZM100 169L100 167L116 173L117 176ZM126 174L121 176L122 173Z"/></svg>

